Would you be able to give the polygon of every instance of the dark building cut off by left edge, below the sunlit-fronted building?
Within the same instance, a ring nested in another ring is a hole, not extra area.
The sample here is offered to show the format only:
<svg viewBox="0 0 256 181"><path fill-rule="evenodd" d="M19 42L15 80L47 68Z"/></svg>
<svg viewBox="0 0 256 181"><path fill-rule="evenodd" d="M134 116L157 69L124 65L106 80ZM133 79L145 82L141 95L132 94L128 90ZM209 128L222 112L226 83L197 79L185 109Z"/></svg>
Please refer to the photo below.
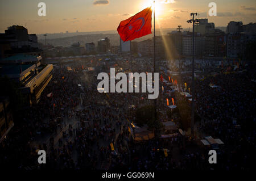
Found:
<svg viewBox="0 0 256 181"><path fill-rule="evenodd" d="M9 99L0 98L0 143L5 139L13 126L13 114L11 113Z"/></svg>

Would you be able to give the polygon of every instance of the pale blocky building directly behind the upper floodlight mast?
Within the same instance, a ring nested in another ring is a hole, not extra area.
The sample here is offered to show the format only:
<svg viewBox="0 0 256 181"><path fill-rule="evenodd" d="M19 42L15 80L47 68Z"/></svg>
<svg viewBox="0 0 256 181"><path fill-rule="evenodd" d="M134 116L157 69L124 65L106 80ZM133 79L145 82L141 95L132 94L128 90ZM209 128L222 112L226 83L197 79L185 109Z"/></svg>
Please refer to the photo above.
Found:
<svg viewBox="0 0 256 181"><path fill-rule="evenodd" d="M200 33L195 34L195 56L202 56L204 53L205 37L201 36ZM182 37L182 52L184 56L193 55L192 33Z"/></svg>

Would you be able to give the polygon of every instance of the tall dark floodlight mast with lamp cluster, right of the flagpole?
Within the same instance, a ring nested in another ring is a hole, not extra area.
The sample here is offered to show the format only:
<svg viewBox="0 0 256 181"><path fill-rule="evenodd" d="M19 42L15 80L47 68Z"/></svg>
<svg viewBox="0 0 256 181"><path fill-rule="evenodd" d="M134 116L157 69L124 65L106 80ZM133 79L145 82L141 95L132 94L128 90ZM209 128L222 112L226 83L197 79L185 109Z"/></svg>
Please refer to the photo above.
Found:
<svg viewBox="0 0 256 181"><path fill-rule="evenodd" d="M187 23L193 23L193 36L192 36L192 42L193 42L193 50L192 50L192 103L191 103L191 138L194 137L194 119L195 119L195 78L194 78L194 74L195 74L195 23L199 22L198 19L195 19L194 16L197 16L197 12L196 13L191 13L191 16L193 16L192 19L187 20Z"/></svg>

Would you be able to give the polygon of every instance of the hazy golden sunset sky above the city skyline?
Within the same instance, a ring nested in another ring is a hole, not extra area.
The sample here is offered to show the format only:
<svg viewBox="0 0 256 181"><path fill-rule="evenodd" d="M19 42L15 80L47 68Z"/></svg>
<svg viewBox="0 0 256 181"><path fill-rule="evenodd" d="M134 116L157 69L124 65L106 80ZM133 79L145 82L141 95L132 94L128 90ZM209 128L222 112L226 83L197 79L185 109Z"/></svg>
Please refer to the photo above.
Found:
<svg viewBox="0 0 256 181"><path fill-rule="evenodd" d="M46 16L39 16L39 2L46 3ZM217 16L209 16L210 2ZM116 30L119 22L152 4L152 0L0 0L0 33L13 24L28 33L60 33ZM256 22L255 0L156 0L156 28L191 27L191 12L208 18L216 27L230 21ZM198 18L198 17L197 17Z"/></svg>

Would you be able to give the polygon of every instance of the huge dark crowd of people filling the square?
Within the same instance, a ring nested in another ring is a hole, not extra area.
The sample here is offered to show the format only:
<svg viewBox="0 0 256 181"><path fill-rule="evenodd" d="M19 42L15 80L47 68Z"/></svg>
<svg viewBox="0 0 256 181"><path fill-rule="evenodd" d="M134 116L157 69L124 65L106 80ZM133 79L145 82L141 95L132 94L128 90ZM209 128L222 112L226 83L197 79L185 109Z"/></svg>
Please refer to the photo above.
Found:
<svg viewBox="0 0 256 181"><path fill-rule="evenodd" d="M152 71L152 62L142 62L114 64L131 72ZM85 64L108 71L114 66ZM154 100L147 99L146 93L98 92L97 74L85 70L81 61L55 66L39 103L17 114L20 120L1 143L0 162L18 169L250 169L255 150L255 85L251 82L255 76L251 72L220 73L196 81L199 132L224 142L217 150L217 166L209 165L208 149L178 131L169 138L135 141L129 130L130 122L136 121L135 111ZM182 80L190 87L189 77ZM167 121L166 98L172 89L160 82L159 92L159 120ZM47 164L38 163L40 149L47 152Z"/></svg>

